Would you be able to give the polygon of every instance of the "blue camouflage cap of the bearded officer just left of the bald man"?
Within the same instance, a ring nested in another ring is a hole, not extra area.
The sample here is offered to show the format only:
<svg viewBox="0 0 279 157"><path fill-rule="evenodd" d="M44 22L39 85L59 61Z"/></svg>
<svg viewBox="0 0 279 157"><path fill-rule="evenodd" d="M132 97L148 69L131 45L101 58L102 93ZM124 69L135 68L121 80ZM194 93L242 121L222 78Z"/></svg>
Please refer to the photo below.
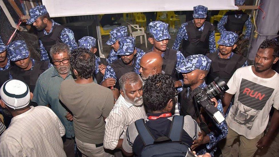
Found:
<svg viewBox="0 0 279 157"><path fill-rule="evenodd" d="M119 39L117 55L131 55L135 50L135 38L123 37Z"/></svg>

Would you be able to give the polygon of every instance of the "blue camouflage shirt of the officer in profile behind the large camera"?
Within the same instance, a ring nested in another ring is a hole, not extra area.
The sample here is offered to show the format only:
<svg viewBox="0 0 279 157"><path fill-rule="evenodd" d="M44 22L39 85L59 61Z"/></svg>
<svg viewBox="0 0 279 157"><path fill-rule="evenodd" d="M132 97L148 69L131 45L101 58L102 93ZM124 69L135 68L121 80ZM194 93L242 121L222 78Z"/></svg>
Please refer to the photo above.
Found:
<svg viewBox="0 0 279 157"><path fill-rule="evenodd" d="M199 86L199 88L204 89L204 87L206 87L207 84L205 83L205 81ZM191 88L188 87L187 90L187 97L190 95L191 93ZM217 100L218 105L217 108L218 110L224 115L224 111L223 111L223 106L222 106L222 102L221 100ZM212 123L214 125L212 125L210 127L211 132L209 134L207 134L207 136L209 136L210 142L205 144L205 145L200 145L198 148L196 148L196 152L198 155L202 155L205 154L206 152L209 152L211 154L211 156L213 156L213 153L217 150L216 148L216 144L226 138L227 134L228 134L228 126L226 121L222 122L221 124L218 124L216 121L212 121Z"/></svg>

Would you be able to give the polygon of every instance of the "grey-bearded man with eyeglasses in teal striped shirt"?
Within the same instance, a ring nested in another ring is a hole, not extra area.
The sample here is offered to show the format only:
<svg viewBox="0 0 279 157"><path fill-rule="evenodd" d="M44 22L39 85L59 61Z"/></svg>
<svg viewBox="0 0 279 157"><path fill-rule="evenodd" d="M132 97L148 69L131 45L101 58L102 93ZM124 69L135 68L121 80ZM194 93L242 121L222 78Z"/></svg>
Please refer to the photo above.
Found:
<svg viewBox="0 0 279 157"><path fill-rule="evenodd" d="M50 106L65 127L63 136L64 150L67 156L75 156L75 134L73 130L73 116L59 101L59 88L63 80L73 80L69 57L70 49L65 43L57 43L50 49L50 56L54 67L42 73L35 86L32 101L41 106Z"/></svg>

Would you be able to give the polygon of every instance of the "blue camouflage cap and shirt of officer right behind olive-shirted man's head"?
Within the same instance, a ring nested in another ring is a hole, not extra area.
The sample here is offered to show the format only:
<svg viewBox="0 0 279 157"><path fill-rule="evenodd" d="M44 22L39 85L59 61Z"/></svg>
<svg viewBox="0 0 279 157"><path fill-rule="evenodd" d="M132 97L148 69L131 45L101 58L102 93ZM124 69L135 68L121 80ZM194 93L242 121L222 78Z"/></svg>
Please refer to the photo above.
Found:
<svg viewBox="0 0 279 157"><path fill-rule="evenodd" d="M82 37L81 39L79 39L79 47L85 47L87 49L91 49L92 47L95 48L96 47L96 39L90 36L85 36ZM95 55L95 54L94 54ZM100 57L96 56L96 60L95 60L95 74L99 72L99 63L101 62ZM108 59L105 59L107 62Z"/></svg>

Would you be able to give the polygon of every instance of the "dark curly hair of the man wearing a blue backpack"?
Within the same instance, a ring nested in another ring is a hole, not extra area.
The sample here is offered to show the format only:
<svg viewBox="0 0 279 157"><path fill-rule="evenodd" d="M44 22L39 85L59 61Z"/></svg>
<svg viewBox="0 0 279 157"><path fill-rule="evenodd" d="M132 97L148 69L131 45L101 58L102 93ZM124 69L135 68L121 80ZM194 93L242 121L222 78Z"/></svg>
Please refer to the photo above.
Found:
<svg viewBox="0 0 279 157"><path fill-rule="evenodd" d="M143 87L144 106L149 112L162 111L175 94L174 80L170 75L150 76Z"/></svg>

